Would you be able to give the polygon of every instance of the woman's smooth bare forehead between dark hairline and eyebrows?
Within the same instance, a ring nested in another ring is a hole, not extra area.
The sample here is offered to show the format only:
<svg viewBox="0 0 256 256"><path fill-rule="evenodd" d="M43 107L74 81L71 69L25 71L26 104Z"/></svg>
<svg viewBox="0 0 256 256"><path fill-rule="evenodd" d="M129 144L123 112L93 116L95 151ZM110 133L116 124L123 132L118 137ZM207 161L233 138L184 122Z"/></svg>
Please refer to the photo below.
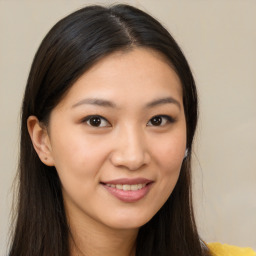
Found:
<svg viewBox="0 0 256 256"><path fill-rule="evenodd" d="M180 79L165 56L148 48L114 52L93 65L71 87L63 99L100 97L118 103L163 97L182 99ZM182 103L182 102L181 102Z"/></svg>

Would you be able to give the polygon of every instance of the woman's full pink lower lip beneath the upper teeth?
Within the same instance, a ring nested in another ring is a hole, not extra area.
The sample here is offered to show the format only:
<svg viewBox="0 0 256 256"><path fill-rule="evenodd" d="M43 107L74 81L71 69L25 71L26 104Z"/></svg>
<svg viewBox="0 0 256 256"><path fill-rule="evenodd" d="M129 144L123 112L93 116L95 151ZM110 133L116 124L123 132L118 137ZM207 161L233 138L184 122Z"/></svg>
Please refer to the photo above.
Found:
<svg viewBox="0 0 256 256"><path fill-rule="evenodd" d="M149 192L152 183L147 184L144 188L139 190L121 190L117 188L109 187L105 184L102 184L107 191L118 198L119 200L127 203L132 203L141 200Z"/></svg>

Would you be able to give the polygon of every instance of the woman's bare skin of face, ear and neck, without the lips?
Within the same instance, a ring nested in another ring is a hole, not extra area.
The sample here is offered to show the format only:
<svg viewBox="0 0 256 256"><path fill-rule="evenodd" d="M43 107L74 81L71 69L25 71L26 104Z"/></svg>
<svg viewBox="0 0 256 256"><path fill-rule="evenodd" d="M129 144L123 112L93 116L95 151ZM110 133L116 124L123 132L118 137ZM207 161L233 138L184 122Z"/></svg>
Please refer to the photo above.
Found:
<svg viewBox="0 0 256 256"><path fill-rule="evenodd" d="M163 98L174 101L147 106ZM90 124L90 115L104 118L100 127ZM155 125L152 118L160 115L172 121L160 117ZM31 116L28 130L40 159L59 174L76 244L72 255L132 255L139 227L172 193L184 158L182 87L171 65L150 49L113 53L76 81L47 129ZM101 184L137 177L153 183L136 202L119 200Z"/></svg>

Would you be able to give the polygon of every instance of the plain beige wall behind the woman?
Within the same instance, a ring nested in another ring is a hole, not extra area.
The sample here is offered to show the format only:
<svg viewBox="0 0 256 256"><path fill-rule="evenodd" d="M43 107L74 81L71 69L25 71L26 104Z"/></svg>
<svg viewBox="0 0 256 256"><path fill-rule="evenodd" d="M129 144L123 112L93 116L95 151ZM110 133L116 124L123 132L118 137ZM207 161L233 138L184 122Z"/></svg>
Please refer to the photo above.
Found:
<svg viewBox="0 0 256 256"><path fill-rule="evenodd" d="M0 0L0 255L7 244L19 109L33 55L56 21L88 3L110 1ZM256 249L256 1L126 3L162 21L197 81L194 189L202 237Z"/></svg>

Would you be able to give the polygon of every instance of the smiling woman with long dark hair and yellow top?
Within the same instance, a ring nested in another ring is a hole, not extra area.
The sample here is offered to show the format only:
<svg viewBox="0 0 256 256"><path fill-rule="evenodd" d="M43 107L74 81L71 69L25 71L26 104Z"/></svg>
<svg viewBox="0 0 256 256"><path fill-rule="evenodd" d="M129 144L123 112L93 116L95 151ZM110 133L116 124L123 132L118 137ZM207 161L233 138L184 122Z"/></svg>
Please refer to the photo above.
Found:
<svg viewBox="0 0 256 256"><path fill-rule="evenodd" d="M86 7L58 22L24 95L10 255L231 250L205 245L197 232L196 123L190 68L155 19L116 5Z"/></svg>

